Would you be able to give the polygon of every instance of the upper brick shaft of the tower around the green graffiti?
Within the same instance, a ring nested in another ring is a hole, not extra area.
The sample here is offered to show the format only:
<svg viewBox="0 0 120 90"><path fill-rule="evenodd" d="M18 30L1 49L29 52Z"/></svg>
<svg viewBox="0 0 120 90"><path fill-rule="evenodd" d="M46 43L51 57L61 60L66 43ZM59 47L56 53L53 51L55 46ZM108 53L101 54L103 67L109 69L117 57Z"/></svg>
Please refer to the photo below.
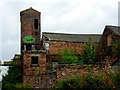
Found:
<svg viewBox="0 0 120 90"><path fill-rule="evenodd" d="M20 13L20 18L21 18L21 50L24 49L23 45L25 44L24 43L25 36L33 36L35 38L35 42L29 44L40 44L41 36L40 12L30 8L28 10L22 11ZM38 19L38 32L35 32L34 29L35 19ZM40 47L37 48L39 49Z"/></svg>

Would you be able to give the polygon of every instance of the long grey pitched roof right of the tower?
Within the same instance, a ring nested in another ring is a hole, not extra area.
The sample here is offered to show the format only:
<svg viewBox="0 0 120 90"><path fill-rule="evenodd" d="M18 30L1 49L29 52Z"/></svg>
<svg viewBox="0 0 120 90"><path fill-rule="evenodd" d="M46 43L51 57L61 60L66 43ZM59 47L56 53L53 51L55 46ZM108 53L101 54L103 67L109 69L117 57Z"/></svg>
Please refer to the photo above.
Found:
<svg viewBox="0 0 120 90"><path fill-rule="evenodd" d="M43 36L48 41L69 41L69 42L85 42L91 37L92 42L99 42L101 34L66 34L66 33L50 33L43 32Z"/></svg>

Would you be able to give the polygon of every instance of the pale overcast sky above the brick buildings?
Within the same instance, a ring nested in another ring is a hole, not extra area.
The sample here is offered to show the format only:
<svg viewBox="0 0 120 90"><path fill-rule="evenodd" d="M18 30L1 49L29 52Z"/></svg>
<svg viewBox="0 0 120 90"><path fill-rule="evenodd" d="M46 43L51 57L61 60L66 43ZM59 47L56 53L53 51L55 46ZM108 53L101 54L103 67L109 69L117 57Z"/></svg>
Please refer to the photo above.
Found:
<svg viewBox="0 0 120 90"><path fill-rule="evenodd" d="M105 25L118 25L118 1L0 0L0 59L11 60L20 53L22 10L41 12L42 32L102 34Z"/></svg>

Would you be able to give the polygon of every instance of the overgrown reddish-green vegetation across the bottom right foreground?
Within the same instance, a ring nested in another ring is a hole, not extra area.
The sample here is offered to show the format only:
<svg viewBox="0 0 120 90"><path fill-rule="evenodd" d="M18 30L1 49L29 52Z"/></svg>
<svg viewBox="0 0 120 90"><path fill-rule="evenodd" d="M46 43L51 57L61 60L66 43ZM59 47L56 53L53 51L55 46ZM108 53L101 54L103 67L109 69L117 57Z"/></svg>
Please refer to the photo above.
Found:
<svg viewBox="0 0 120 90"><path fill-rule="evenodd" d="M60 80L55 88L120 88L120 74L101 72L100 74L78 74L76 77Z"/></svg>

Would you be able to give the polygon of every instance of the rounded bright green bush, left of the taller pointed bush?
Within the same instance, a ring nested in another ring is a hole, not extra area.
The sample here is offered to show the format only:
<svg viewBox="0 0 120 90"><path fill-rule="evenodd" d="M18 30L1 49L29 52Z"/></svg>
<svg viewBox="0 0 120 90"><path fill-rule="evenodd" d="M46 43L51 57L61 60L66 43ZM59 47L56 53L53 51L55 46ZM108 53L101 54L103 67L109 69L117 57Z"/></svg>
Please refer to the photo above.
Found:
<svg viewBox="0 0 120 90"><path fill-rule="evenodd" d="M78 62L78 57L72 50L66 49L64 53L59 52L59 55L61 56L60 61L63 64L75 64Z"/></svg>

